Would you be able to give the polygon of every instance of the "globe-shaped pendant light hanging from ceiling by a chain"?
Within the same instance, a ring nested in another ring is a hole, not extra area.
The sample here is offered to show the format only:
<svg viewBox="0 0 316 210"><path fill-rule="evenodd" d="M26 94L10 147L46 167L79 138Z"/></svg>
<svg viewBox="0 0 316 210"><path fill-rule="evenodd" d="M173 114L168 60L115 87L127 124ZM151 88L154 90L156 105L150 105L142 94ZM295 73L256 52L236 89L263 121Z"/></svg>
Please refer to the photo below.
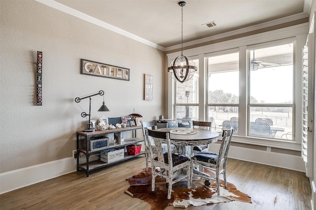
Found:
<svg viewBox="0 0 316 210"><path fill-rule="evenodd" d="M183 83L191 79L197 71L195 63L188 57L183 55L183 6L186 5L185 1L180 1L181 6L181 56L176 57L168 67L168 72L179 82Z"/></svg>

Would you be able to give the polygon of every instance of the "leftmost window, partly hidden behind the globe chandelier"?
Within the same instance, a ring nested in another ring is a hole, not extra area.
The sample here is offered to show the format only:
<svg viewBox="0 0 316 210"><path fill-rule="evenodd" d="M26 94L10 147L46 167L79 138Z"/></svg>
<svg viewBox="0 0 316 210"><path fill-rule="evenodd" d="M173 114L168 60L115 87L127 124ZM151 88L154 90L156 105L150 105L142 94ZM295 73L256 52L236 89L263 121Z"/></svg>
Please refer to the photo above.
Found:
<svg viewBox="0 0 316 210"><path fill-rule="evenodd" d="M198 60L192 79L184 83L175 80L175 113L176 119L198 119Z"/></svg>

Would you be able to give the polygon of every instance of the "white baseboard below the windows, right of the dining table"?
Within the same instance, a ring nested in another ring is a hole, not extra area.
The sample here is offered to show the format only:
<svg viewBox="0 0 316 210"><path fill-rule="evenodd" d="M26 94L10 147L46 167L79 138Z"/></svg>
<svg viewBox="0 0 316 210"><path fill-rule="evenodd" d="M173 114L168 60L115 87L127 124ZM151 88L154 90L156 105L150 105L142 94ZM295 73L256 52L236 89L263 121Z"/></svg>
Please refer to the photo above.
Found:
<svg viewBox="0 0 316 210"><path fill-rule="evenodd" d="M218 152L219 147L220 144L214 143L209 147L209 151ZM260 163L268 166L305 172L305 166L301 156L230 146L228 157L253 163Z"/></svg>

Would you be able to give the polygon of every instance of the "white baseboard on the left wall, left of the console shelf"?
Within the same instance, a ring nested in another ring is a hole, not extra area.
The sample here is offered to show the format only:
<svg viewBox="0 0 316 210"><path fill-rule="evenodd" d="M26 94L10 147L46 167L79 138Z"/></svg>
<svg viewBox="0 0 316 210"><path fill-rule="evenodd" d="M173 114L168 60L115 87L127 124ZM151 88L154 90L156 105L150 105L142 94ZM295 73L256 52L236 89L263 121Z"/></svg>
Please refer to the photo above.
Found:
<svg viewBox="0 0 316 210"><path fill-rule="evenodd" d="M77 171L73 157L0 174L0 195L47 179Z"/></svg>

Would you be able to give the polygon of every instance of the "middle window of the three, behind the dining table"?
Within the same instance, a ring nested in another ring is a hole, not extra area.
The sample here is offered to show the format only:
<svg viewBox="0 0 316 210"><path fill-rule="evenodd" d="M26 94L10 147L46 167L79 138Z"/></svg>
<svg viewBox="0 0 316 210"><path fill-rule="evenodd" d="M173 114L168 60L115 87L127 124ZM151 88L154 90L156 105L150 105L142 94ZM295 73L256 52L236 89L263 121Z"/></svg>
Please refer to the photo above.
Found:
<svg viewBox="0 0 316 210"><path fill-rule="evenodd" d="M206 58L207 64L207 119L215 130L224 121L238 118L239 53L227 53ZM237 129L234 131L237 133Z"/></svg>

